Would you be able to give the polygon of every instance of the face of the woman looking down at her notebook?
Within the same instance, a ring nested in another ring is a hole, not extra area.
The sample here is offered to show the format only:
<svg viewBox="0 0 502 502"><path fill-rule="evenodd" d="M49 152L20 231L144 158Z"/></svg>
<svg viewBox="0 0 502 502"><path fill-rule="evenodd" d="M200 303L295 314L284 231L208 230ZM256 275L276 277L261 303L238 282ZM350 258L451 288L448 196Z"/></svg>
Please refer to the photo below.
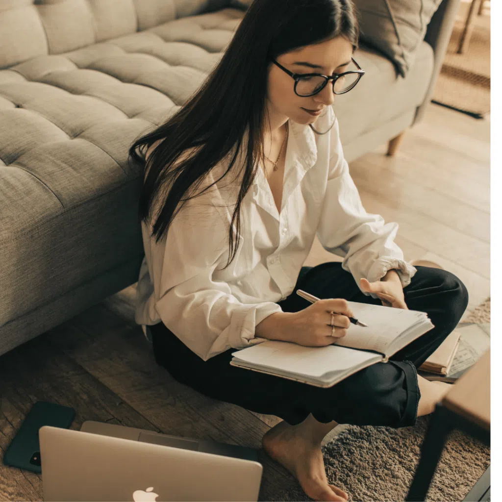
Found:
<svg viewBox="0 0 502 502"><path fill-rule="evenodd" d="M352 57L352 44L343 37L336 37L320 44L307 45L281 54L276 61L292 73L322 73L333 75L348 71ZM305 63L305 64L300 64ZM333 104L335 94L330 80L317 94L301 97L295 93L295 80L274 63L270 63L267 99L269 106L281 115L286 115L301 124L314 123L317 116L305 109L321 110Z"/></svg>

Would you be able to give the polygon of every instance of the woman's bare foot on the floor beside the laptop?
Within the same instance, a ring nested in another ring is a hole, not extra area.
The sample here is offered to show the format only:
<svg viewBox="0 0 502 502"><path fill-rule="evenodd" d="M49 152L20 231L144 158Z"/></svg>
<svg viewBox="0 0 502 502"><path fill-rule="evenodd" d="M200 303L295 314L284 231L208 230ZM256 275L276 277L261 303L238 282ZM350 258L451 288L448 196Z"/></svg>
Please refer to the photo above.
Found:
<svg viewBox="0 0 502 502"><path fill-rule="evenodd" d="M303 491L314 500L345 502L348 495L329 484L321 445L309 441L297 426L282 421L266 432L262 444L265 451L286 467L299 481Z"/></svg>

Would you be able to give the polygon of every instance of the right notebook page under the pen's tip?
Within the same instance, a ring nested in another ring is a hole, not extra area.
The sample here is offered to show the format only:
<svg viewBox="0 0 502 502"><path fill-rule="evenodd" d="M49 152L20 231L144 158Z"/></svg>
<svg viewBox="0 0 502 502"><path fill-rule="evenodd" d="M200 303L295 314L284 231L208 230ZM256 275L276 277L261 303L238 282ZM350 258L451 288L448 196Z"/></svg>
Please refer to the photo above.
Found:
<svg viewBox="0 0 502 502"><path fill-rule="evenodd" d="M425 312L397 309L359 302L347 302L356 319L367 327L350 324L346 335L335 345L376 350L385 353L387 347L404 331L427 318Z"/></svg>

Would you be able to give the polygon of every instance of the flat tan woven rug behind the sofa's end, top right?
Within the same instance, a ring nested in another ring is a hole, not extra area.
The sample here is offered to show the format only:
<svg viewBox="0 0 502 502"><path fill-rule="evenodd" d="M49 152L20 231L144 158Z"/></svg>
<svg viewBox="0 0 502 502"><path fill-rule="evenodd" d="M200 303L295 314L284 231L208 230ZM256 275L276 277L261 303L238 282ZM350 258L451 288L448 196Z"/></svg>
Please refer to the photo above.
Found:
<svg viewBox="0 0 502 502"><path fill-rule="evenodd" d="M475 118L490 111L490 16L489 10L474 16L467 50L457 54L469 5L461 3L457 21L434 88L433 102L462 110Z"/></svg>

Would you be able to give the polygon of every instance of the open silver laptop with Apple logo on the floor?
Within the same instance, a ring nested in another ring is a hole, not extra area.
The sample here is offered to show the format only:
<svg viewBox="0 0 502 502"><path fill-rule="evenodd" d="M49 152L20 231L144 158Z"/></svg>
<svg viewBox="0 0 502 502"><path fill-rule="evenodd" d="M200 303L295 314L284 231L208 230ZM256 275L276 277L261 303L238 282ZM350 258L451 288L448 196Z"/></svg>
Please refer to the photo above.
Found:
<svg viewBox="0 0 502 502"><path fill-rule="evenodd" d="M258 500L257 450L87 421L39 430L44 500Z"/></svg>

